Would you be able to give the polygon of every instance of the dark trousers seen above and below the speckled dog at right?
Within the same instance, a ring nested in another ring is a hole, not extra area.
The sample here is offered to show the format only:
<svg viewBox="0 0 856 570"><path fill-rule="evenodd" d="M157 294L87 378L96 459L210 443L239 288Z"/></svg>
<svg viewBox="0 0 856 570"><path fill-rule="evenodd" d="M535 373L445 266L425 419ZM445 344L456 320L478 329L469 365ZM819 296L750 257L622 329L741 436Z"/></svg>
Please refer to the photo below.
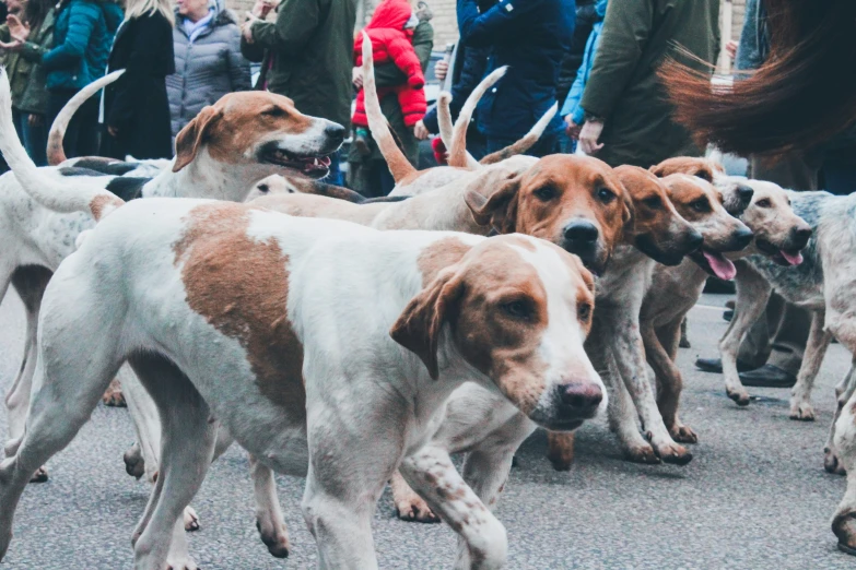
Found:
<svg viewBox="0 0 856 570"><path fill-rule="evenodd" d="M769 180L789 190L817 190L818 167L801 156L787 156L774 164L755 157L749 177ZM793 375L802 365L802 355L811 326L811 314L787 302L775 292L764 316L750 329L740 345L738 358L751 366L769 363Z"/></svg>

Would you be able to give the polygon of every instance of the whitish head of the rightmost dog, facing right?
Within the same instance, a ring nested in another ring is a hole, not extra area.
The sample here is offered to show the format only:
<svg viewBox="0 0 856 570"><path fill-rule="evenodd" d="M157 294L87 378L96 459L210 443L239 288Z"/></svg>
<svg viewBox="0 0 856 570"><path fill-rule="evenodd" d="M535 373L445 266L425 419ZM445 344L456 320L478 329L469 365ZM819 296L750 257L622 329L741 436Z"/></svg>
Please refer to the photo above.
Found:
<svg viewBox="0 0 856 570"><path fill-rule="evenodd" d="M754 195L741 219L755 235L755 248L779 265L802 263L800 251L811 238L811 226L794 213L787 192L773 182L746 183Z"/></svg>

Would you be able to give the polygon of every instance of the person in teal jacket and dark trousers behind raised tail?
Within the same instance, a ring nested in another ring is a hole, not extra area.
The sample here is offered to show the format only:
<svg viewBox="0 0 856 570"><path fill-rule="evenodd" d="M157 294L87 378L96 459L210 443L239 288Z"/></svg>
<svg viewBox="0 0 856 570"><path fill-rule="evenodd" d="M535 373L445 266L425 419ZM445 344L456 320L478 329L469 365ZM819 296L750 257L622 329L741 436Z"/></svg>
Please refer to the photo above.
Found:
<svg viewBox="0 0 856 570"><path fill-rule="evenodd" d="M54 25L54 47L42 54L47 72L48 124L83 86L104 75L113 37L121 22L118 4L105 0L62 0ZM66 155L98 152L98 100L74 114L63 141Z"/></svg>

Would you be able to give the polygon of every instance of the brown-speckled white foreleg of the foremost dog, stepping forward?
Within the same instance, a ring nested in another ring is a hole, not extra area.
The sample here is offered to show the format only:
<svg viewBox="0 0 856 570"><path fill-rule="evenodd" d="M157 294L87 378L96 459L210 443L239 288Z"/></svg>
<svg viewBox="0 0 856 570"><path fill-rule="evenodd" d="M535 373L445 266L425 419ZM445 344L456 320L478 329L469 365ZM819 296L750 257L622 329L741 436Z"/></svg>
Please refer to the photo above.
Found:
<svg viewBox="0 0 856 570"><path fill-rule="evenodd" d="M511 459L507 463L506 474ZM404 480L465 543L466 547L458 551L455 568L505 566L508 551L505 527L465 483L445 449L429 444L404 458L399 468Z"/></svg>

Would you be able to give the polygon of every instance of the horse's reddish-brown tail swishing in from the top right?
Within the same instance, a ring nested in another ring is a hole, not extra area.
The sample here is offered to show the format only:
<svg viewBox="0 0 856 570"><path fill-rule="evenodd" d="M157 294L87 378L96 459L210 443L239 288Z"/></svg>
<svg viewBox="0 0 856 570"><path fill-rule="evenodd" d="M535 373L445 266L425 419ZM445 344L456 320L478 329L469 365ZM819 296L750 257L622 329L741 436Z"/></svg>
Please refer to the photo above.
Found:
<svg viewBox="0 0 856 570"><path fill-rule="evenodd" d="M712 88L675 60L659 76L696 142L741 155L805 151L856 122L856 1L760 1L770 56L748 79Z"/></svg>

